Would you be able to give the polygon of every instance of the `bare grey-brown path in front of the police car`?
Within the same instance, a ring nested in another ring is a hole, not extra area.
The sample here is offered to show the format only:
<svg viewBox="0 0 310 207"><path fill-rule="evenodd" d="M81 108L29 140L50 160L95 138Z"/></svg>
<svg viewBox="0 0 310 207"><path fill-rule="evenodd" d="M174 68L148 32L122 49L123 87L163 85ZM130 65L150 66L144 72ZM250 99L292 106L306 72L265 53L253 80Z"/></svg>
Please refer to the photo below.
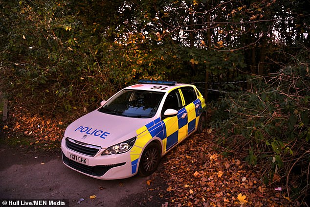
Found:
<svg viewBox="0 0 310 207"><path fill-rule="evenodd" d="M113 181L90 178L67 168L60 151L17 152L0 146L0 199L68 199L70 207L161 206L157 190L149 190L150 177ZM95 195L95 199L90 196ZM157 197L156 197L157 196ZM80 204L78 201L84 199Z"/></svg>

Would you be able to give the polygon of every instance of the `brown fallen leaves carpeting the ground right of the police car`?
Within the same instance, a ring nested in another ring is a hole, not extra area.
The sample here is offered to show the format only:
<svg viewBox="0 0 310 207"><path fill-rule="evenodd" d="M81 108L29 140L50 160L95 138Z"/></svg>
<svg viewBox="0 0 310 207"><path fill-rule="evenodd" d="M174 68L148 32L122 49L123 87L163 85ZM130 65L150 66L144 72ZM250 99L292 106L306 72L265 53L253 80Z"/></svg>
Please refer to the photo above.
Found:
<svg viewBox="0 0 310 207"><path fill-rule="evenodd" d="M280 206L285 193L265 186L242 158L223 157L210 137L208 132L192 136L164 158L169 206Z"/></svg>

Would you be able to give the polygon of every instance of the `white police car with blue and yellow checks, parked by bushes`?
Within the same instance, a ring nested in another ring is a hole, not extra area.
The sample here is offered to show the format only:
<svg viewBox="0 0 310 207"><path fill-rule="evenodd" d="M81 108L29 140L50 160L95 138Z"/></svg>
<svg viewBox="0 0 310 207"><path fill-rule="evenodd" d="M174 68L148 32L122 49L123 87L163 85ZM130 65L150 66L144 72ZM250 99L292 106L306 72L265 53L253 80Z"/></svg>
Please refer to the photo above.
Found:
<svg viewBox="0 0 310 207"><path fill-rule="evenodd" d="M139 81L66 128L63 162L103 180L148 176L163 155L195 131L202 132L204 109L194 85Z"/></svg>

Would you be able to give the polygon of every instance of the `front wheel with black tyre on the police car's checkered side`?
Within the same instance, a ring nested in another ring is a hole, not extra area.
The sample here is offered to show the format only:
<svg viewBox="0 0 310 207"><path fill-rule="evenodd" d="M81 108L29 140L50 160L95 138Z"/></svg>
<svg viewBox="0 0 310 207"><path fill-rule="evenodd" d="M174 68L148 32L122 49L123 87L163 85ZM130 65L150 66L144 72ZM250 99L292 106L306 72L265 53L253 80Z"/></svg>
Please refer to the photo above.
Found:
<svg viewBox="0 0 310 207"><path fill-rule="evenodd" d="M161 158L161 149L158 144L151 142L143 151L138 173L141 176L149 176L154 173L158 167Z"/></svg>

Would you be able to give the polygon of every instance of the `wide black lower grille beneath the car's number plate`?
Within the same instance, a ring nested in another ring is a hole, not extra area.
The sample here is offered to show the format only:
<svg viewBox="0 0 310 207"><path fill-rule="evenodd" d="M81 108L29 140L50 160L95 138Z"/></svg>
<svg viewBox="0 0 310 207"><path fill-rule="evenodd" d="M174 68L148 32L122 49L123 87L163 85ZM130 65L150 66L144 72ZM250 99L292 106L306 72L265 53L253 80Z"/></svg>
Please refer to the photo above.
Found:
<svg viewBox="0 0 310 207"><path fill-rule="evenodd" d="M96 166L88 166L85 164L81 164L79 162L76 161L72 161L70 159L68 159L64 153L63 154L63 161L70 167L84 172L86 174L89 175L93 175L93 176L103 176L106 172L108 172L108 170L110 170L113 167L118 167L118 166L122 166L124 164L126 164L126 162L122 162L122 163L118 163L118 164L109 164L109 165L96 165Z"/></svg>

